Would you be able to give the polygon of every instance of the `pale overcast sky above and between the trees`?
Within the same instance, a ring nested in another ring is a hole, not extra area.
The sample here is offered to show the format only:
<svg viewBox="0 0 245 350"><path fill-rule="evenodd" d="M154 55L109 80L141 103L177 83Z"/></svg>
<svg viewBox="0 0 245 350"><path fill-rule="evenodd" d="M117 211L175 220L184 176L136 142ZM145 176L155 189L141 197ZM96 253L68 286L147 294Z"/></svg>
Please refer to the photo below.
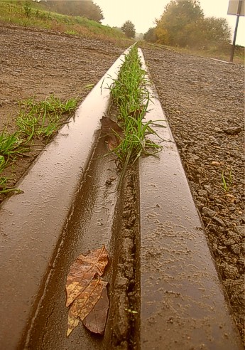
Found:
<svg viewBox="0 0 245 350"><path fill-rule="evenodd" d="M232 0L233 1L233 0ZM104 14L103 24L121 27L125 21L134 23L137 33L146 33L154 26L155 18L163 14L170 0L94 0ZM229 0L200 0L205 16L227 18L232 28L232 38L236 16L227 15ZM240 16L236 43L245 46L245 17Z"/></svg>

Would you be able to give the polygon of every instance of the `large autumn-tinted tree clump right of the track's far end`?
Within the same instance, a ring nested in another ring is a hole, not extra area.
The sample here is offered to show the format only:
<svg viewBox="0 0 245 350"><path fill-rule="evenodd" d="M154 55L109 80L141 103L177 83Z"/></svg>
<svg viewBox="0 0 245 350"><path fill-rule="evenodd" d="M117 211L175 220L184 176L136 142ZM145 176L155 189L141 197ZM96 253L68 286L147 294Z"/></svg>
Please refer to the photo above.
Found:
<svg viewBox="0 0 245 350"><path fill-rule="evenodd" d="M171 0L156 20L156 27L144 35L151 43L202 49L227 46L230 38L227 20L205 18L199 0Z"/></svg>

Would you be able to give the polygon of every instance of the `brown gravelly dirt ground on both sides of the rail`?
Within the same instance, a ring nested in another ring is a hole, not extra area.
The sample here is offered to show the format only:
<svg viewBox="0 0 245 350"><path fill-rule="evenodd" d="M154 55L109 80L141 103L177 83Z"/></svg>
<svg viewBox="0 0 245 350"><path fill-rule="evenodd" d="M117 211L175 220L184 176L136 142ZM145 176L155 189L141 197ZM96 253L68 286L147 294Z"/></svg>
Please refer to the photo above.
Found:
<svg viewBox="0 0 245 350"><path fill-rule="evenodd" d="M86 85L97 83L123 51L109 42L1 23L0 47L0 129L6 124L14 128L23 98L54 93L81 101L88 93ZM242 332L244 67L158 49L143 53ZM23 157L16 164L13 184L33 159Z"/></svg>

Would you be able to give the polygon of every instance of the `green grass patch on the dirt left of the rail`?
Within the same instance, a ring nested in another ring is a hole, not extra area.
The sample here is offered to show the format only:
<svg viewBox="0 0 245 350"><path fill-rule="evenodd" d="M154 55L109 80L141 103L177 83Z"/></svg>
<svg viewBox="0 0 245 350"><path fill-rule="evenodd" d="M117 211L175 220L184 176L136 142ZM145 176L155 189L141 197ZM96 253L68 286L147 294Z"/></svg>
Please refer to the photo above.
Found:
<svg viewBox="0 0 245 350"><path fill-rule="evenodd" d="M11 180L4 174L6 169L15 166L16 161L35 149L35 140L48 140L64 124L65 119L77 107L77 98L62 102L55 95L43 101L30 97L18 102L16 132L9 132L6 127L0 132L0 194L19 191L9 186Z"/></svg>

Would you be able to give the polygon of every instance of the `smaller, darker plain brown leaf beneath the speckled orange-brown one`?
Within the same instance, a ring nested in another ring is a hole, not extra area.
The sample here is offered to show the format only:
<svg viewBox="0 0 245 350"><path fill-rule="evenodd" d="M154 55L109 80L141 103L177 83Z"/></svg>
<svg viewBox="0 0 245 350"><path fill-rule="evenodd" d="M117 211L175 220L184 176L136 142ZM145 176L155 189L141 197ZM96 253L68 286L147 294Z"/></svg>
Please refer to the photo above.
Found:
<svg viewBox="0 0 245 350"><path fill-rule="evenodd" d="M109 309L109 299L107 297L106 286L106 284L103 286L102 295L94 305L92 311L89 312L89 314L82 321L82 324L89 329L90 332L101 335L104 334L104 327L107 323L107 312Z"/></svg>

